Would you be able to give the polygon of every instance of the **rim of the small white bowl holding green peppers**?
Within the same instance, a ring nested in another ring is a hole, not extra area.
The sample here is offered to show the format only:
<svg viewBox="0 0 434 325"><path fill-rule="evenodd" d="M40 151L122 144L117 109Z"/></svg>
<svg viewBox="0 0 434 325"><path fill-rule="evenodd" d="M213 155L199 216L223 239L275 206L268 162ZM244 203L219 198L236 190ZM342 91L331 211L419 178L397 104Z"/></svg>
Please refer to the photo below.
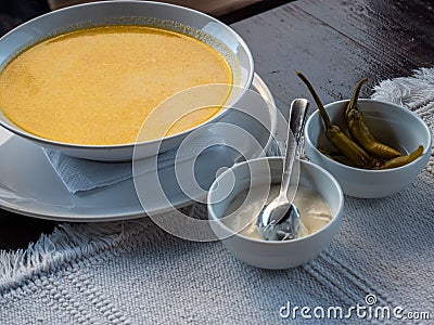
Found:
<svg viewBox="0 0 434 325"><path fill-rule="evenodd" d="M397 104L395 104L395 103L385 102L385 101L379 101L379 100L372 100L372 99L359 99L358 101L359 101L360 103L362 103L362 104L363 104L363 103L365 103L365 104L366 104L366 103L368 103L368 104L369 104L369 103L370 103L370 104L375 104L375 103L378 103L378 104L383 104L383 105L385 104L385 105L395 107L396 109L399 109L400 112L404 112L404 114L408 114L408 115L412 116L412 118L414 118L416 120L418 120L419 123L423 126L423 130L425 131L425 134L427 134L429 145L423 147L423 152L422 152L422 155L421 155L421 156L419 156L419 157L418 157L417 159L414 159L413 161L411 161L411 162L409 162L409 164L406 164L406 165L404 165L404 166L399 166L399 167L395 167L395 168L390 168L390 169L363 169L363 168L357 168L357 167L348 166L348 165L339 162L339 161L336 161L336 160L333 160L333 159L329 158L328 156L326 156L324 154L322 154L322 153L318 150L317 145L314 144L312 140L310 139L310 136L309 136L309 128L310 128L310 126L311 126L311 123L312 123L314 117L319 115L319 110L316 109L316 110L309 116L309 118L308 118L307 121L306 121L306 127L305 127L305 131L304 131L304 139L305 139L305 142L308 143L309 146L310 146L317 154L319 154L323 159L326 159L326 160L328 161L328 164L332 164L333 166L337 166L339 168L347 168L348 170L353 170L353 171L356 171L356 172L372 172L372 173L382 174L382 173L399 172L399 171L403 170L403 169L410 168L411 166L418 164L419 160L423 159L424 156L426 156L426 155L431 152L431 148L432 148L432 134L431 134L431 130L430 130L429 126L425 123L425 121L424 121L420 116L418 116L414 112L412 112L412 110L410 110L410 109L408 109L408 108L406 108L406 107L403 107L403 106L400 106L400 105L397 105ZM342 104L348 103L348 102L349 102L349 100L334 101L334 102L331 102L331 103L328 103L327 105L324 105L324 108L328 109L328 108L330 108L330 107L334 107L334 106L336 106L336 105L342 105Z"/></svg>

